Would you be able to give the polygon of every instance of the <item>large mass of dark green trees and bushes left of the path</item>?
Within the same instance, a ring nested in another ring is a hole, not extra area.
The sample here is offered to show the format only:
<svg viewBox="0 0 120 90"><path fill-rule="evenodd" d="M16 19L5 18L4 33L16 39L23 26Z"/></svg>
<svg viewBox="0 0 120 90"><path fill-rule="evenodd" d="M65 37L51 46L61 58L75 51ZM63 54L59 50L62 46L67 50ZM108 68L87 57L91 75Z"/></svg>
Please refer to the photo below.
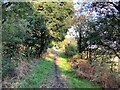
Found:
<svg viewBox="0 0 120 90"><path fill-rule="evenodd" d="M21 57L39 57L47 49L49 33L44 16L31 3L8 2L2 7L3 76L9 76Z"/></svg>

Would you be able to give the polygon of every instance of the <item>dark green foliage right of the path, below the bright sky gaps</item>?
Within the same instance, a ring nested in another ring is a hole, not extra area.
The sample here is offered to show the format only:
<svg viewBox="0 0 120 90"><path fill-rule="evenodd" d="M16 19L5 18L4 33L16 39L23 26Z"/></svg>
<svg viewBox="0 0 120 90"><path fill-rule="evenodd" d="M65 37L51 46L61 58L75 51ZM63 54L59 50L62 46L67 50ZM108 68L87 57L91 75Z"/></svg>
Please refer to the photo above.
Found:
<svg viewBox="0 0 120 90"><path fill-rule="evenodd" d="M103 3L103 5L104 4L105 3ZM99 7L96 6L96 8L98 9ZM97 50L97 48L99 47L106 52L112 52L112 54L120 57L117 54L120 52L120 42L118 41L118 39L120 38L120 24L119 18L117 16L118 14L114 15L114 12L111 13L111 15L109 15L109 13L107 12L105 13L106 14L104 16L102 16L102 13L99 13L100 17L98 17L96 20L94 18L93 20L91 20L91 18L85 16L80 16L79 18L77 18L78 21L76 23L76 32L79 33L79 37L77 37L79 53L82 53L83 51L88 51L90 52L88 56L92 56L91 53L94 52L95 54L97 52L95 52L95 50ZM96 45L97 47L91 49L92 45ZM94 60L96 60L97 57L94 57Z"/></svg>

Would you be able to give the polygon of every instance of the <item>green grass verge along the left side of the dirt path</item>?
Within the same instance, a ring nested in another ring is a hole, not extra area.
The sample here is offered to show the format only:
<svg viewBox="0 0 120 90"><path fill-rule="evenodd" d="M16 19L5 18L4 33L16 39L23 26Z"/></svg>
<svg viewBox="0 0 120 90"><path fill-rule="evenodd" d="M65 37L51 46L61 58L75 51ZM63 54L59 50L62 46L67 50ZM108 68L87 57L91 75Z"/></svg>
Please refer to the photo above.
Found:
<svg viewBox="0 0 120 90"><path fill-rule="evenodd" d="M39 88L44 78L53 70L53 61L51 58L40 60L40 62L33 67L25 80L21 80L19 88Z"/></svg>

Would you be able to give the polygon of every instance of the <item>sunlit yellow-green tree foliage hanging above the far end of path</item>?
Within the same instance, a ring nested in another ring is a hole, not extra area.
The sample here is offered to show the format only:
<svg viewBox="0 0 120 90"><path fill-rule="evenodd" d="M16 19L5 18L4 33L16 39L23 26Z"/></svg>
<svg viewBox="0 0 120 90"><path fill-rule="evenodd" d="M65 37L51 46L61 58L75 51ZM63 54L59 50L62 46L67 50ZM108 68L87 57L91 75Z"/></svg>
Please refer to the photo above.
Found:
<svg viewBox="0 0 120 90"><path fill-rule="evenodd" d="M34 9L45 16L51 40L64 39L74 14L72 4L71 2L34 2Z"/></svg>

